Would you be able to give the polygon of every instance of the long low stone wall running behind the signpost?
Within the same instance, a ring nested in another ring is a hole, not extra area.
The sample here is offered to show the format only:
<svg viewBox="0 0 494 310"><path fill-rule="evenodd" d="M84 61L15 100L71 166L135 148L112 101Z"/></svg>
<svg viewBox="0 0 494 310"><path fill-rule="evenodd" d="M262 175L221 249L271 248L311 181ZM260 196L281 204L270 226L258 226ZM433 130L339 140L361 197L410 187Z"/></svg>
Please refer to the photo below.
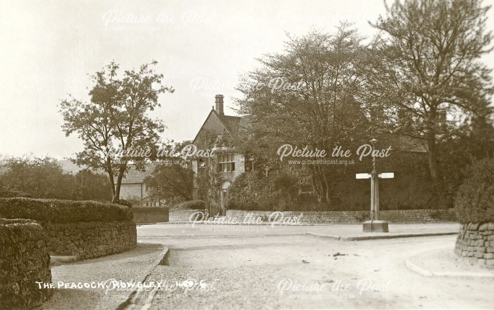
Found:
<svg viewBox="0 0 494 310"><path fill-rule="evenodd" d="M247 213L268 221L272 211L226 210L226 215L244 221ZM284 211L284 217L299 216L303 213L301 223L362 223L370 218L370 211ZM379 219L390 222L440 222L455 221L454 209L416 209L416 210L384 210L379 212Z"/></svg>

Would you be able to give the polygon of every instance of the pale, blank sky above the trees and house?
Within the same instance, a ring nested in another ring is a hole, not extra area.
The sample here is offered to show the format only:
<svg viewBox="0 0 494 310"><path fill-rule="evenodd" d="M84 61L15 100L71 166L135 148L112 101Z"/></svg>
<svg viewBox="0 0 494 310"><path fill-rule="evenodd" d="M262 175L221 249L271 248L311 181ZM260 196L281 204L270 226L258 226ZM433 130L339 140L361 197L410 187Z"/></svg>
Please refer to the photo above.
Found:
<svg viewBox="0 0 494 310"><path fill-rule="evenodd" d="M388 3L390 0L388 0ZM485 1L494 4L494 1ZM0 154L49 155L82 150L66 137L59 103L88 101L90 75L115 60L121 69L152 60L175 92L160 96L151 116L167 126L164 140L193 139L225 96L232 110L239 76L263 54L281 52L286 33L334 32L340 21L372 37L382 0L0 0ZM489 12L494 30L494 11ZM492 54L484 62L494 67Z"/></svg>

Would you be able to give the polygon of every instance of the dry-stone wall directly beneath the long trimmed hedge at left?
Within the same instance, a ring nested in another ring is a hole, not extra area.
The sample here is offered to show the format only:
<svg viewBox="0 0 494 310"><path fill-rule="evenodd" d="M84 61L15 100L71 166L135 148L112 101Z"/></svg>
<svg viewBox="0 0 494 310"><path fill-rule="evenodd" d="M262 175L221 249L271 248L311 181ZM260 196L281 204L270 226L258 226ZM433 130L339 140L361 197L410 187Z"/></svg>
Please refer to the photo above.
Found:
<svg viewBox="0 0 494 310"><path fill-rule="evenodd" d="M83 259L127 251L137 245L132 221L43 223L52 255Z"/></svg>

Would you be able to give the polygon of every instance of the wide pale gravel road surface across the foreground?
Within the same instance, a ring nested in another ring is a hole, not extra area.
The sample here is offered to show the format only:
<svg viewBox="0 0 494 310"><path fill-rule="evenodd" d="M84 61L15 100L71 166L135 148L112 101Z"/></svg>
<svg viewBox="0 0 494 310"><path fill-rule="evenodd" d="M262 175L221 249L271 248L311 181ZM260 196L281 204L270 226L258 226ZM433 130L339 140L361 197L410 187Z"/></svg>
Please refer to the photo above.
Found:
<svg viewBox="0 0 494 310"><path fill-rule="evenodd" d="M492 279L424 277L405 266L418 253L453 250L455 238L166 238L167 266L148 280L170 287L157 290L150 309L491 309ZM201 281L204 289L176 285Z"/></svg>

